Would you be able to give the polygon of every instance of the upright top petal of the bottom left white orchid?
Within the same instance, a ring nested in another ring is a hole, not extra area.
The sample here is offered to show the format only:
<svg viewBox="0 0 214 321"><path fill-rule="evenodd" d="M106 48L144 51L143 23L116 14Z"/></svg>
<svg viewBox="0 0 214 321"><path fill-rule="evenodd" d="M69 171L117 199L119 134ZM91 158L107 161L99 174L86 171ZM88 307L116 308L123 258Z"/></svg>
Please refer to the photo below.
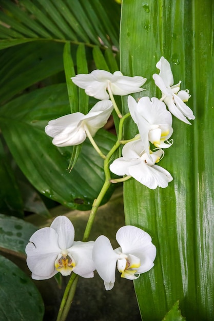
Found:
<svg viewBox="0 0 214 321"><path fill-rule="evenodd" d="M74 240L74 227L66 216L57 216L51 226L58 234L58 244L62 250L70 248Z"/></svg>

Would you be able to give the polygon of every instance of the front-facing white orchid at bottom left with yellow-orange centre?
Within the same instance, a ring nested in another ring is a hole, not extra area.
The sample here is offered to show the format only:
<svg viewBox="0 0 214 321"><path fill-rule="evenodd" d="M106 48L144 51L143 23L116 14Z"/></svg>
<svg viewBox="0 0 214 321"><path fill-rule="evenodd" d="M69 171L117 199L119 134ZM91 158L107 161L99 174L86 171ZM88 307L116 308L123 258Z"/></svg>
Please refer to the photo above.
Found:
<svg viewBox="0 0 214 321"><path fill-rule="evenodd" d="M74 227L66 216L56 217L50 227L42 228L26 246L27 265L36 280L48 279L60 272L93 277L94 242L74 241Z"/></svg>

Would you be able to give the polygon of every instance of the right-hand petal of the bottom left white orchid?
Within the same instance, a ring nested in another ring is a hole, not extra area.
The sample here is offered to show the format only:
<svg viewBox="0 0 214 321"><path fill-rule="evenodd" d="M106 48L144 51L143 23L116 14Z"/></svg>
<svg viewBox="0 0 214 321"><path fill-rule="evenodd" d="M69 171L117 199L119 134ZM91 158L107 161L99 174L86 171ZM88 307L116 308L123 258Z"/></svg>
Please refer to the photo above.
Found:
<svg viewBox="0 0 214 321"><path fill-rule="evenodd" d="M93 241L73 243L73 246L67 251L74 258L75 266L73 271L83 277L93 277L95 266L92 260Z"/></svg>

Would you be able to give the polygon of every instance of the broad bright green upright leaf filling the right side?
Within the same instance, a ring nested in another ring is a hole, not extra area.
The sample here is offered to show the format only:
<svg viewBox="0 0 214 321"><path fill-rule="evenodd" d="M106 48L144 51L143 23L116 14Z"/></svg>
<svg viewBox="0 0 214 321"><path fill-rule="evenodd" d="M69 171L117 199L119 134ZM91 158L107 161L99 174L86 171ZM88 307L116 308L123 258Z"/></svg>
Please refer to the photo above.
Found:
<svg viewBox="0 0 214 321"><path fill-rule="evenodd" d="M121 71L147 77L144 96L161 97L152 74L161 56L174 84L191 93L196 119L173 117L173 145L160 165L173 176L165 189L149 190L134 179L124 184L126 224L149 232L157 247L154 268L134 282L141 315L161 320L177 300L186 320L213 320L213 2L124 0ZM123 99L124 113L127 98ZM136 133L133 122L127 138Z"/></svg>

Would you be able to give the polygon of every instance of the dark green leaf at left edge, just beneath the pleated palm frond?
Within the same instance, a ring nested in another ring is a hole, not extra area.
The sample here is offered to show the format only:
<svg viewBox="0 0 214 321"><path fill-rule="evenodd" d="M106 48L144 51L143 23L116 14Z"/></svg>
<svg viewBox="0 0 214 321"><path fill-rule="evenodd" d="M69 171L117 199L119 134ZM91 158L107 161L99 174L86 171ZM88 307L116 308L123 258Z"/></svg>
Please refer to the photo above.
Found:
<svg viewBox="0 0 214 321"><path fill-rule="evenodd" d="M34 42L1 52L0 101L63 70L63 44ZM57 63L56 63L57 62Z"/></svg>

